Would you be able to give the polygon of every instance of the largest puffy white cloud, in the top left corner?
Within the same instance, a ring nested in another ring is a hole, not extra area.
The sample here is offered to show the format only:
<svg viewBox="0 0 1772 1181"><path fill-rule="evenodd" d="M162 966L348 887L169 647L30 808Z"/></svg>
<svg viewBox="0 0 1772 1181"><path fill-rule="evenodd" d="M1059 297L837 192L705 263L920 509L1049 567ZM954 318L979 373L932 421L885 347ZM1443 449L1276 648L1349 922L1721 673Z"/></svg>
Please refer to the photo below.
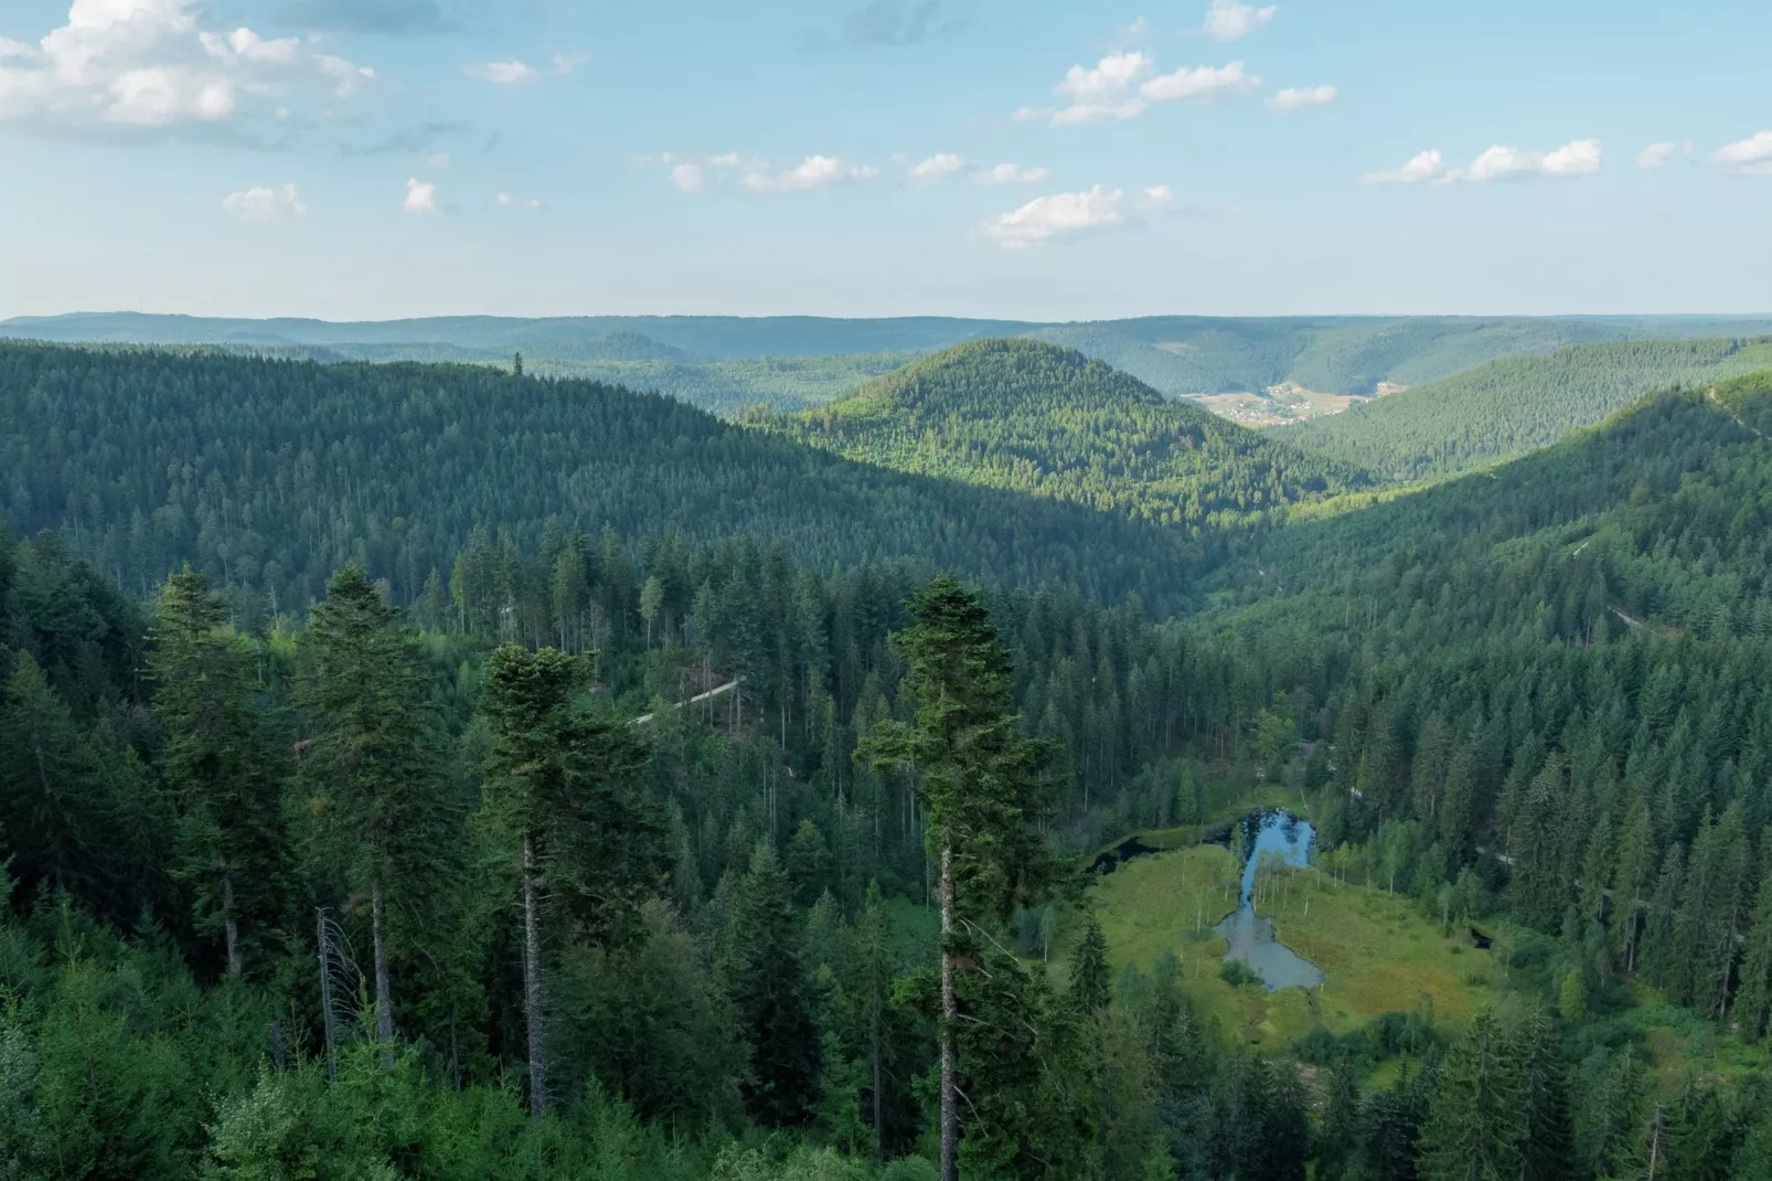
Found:
<svg viewBox="0 0 1772 1181"><path fill-rule="evenodd" d="M73 0L37 44L0 43L0 121L64 131L218 126L301 87L349 94L374 71L294 37L198 25L195 0Z"/></svg>

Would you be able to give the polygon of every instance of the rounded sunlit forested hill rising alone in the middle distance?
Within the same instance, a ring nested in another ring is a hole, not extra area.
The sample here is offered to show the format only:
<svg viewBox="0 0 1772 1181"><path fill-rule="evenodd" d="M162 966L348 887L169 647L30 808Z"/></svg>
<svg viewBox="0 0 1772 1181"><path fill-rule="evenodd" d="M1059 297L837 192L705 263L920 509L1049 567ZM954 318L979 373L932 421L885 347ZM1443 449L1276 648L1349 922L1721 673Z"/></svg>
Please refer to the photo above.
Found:
<svg viewBox="0 0 1772 1181"><path fill-rule="evenodd" d="M1366 484L1038 340L960 344L767 424L884 468L1196 528Z"/></svg>

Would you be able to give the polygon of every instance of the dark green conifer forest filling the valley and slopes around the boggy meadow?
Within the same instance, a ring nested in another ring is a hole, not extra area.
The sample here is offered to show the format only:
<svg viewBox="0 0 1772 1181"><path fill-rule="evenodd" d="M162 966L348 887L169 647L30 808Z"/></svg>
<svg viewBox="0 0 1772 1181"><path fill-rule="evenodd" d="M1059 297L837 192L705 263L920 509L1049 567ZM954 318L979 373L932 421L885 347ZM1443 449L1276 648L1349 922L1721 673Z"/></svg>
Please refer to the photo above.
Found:
<svg viewBox="0 0 1772 1181"><path fill-rule="evenodd" d="M1772 1177L1772 374L1182 548L1170 408L1028 356L891 390L936 479L0 349L0 1177ZM1040 440L1120 498L976 486ZM1115 972L1093 855L1274 789L1496 1005Z"/></svg>

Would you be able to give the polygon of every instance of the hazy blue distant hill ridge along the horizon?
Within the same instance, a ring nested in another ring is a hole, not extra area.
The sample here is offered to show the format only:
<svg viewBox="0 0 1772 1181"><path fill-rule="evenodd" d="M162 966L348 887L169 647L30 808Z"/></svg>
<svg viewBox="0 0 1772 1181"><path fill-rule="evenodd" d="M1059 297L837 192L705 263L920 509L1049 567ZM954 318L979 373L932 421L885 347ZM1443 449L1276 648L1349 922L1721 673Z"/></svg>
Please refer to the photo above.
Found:
<svg viewBox="0 0 1772 1181"><path fill-rule="evenodd" d="M1145 316L1037 323L905 316L443 316L379 323L204 319L136 312L18 317L0 335L62 342L144 344L447 344L525 349L544 342L638 333L695 358L838 356L934 351L983 337L1031 335L1065 344L1145 381L1159 394L1260 392L1297 381L1322 394L1364 394L1380 381L1421 385L1499 356L1536 356L1570 344L1772 333L1772 316L1747 317L1469 317L1469 316Z"/></svg>

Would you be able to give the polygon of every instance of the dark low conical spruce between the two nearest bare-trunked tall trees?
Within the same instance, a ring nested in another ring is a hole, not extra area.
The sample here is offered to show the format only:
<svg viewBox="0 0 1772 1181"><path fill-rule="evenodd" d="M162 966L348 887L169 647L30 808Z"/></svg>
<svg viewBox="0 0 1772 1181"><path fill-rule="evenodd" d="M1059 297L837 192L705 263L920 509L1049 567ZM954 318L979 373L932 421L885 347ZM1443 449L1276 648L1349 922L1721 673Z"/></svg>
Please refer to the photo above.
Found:
<svg viewBox="0 0 1772 1181"><path fill-rule="evenodd" d="M757 842L739 881L723 975L751 1048L746 1107L771 1128L806 1122L819 1103L819 1030L799 959L799 920L781 862Z"/></svg>

